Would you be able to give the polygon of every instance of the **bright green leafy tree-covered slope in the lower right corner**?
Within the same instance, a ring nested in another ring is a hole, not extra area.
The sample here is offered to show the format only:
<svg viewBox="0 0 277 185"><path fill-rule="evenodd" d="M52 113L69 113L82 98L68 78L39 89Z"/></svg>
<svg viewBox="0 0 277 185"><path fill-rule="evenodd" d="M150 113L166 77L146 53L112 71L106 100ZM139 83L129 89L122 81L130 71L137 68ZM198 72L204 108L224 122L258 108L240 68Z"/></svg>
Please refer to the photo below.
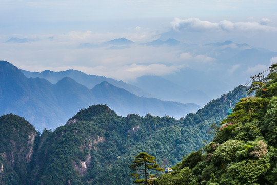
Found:
<svg viewBox="0 0 277 185"><path fill-rule="evenodd" d="M276 184L277 75L252 86L221 122L212 142L192 152L154 184ZM185 173L184 173L185 172Z"/></svg>

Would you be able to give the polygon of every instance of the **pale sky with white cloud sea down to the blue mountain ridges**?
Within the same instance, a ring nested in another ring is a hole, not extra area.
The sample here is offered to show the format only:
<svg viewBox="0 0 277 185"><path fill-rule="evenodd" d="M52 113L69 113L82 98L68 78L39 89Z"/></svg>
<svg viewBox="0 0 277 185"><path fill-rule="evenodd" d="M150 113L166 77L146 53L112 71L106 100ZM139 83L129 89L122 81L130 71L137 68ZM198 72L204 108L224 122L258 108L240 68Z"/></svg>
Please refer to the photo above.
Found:
<svg viewBox="0 0 277 185"><path fill-rule="evenodd" d="M129 82L216 60L189 48L141 45L168 38L195 45L232 40L277 52L273 0L0 0L0 17L0 60L29 71L75 69ZM105 45L122 37L135 44Z"/></svg>

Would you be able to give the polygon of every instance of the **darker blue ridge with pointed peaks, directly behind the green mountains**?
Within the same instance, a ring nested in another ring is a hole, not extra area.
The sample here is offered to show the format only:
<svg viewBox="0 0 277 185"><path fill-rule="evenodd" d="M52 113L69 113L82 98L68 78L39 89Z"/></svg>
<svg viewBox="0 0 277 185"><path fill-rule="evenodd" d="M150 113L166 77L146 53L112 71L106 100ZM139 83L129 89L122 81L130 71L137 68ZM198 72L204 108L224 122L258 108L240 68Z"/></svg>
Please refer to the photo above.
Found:
<svg viewBox="0 0 277 185"><path fill-rule="evenodd" d="M21 70L6 61L0 61L0 66L1 114L23 116L39 130L65 124L78 110L93 104L107 104L123 116L129 113L151 113L175 118L184 117L200 108L193 103L182 104L138 97L107 81L102 81L92 89L70 77L64 77L52 84L43 78L27 78ZM117 82L112 79L110 81ZM126 85L123 82L118 83Z"/></svg>

